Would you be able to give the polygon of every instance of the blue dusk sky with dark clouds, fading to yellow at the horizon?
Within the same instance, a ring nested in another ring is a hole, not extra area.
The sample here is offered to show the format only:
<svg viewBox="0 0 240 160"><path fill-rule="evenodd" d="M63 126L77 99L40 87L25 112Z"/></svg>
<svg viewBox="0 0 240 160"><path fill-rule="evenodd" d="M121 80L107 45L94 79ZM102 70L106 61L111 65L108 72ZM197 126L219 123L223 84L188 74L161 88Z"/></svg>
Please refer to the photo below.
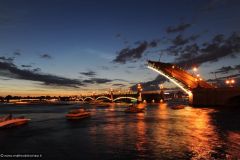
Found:
<svg viewBox="0 0 240 160"><path fill-rule="evenodd" d="M237 79L239 53L238 0L0 0L3 96L156 89L148 59Z"/></svg>

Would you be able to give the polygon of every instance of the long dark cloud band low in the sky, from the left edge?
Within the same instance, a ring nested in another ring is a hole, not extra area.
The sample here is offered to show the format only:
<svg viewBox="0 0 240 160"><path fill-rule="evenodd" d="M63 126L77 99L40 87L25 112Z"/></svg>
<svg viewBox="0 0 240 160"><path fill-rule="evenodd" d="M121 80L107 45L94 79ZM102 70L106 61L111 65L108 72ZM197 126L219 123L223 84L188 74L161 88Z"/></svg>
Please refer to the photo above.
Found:
<svg viewBox="0 0 240 160"><path fill-rule="evenodd" d="M13 79L30 80L42 82L42 85L62 86L79 88L83 86L82 82L77 79L69 79L51 74L36 73L30 70L19 69L12 62L0 62L0 76L5 76ZM4 73L5 71L5 73Z"/></svg>

